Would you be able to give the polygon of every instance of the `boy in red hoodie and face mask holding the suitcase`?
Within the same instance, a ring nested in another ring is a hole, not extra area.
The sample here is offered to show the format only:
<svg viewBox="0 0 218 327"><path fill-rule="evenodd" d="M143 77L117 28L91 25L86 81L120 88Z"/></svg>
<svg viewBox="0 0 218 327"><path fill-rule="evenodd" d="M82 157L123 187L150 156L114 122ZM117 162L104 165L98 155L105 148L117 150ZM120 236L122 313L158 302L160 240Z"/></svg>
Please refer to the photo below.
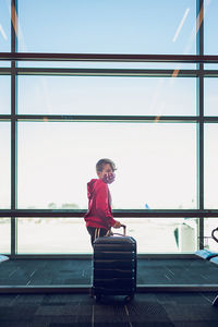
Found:
<svg viewBox="0 0 218 327"><path fill-rule="evenodd" d="M114 181L116 165L110 159L100 159L96 164L98 179L93 179L87 183L88 211L84 219L86 228L90 234L90 242L105 237L111 227L120 228L120 221L112 217L111 195L108 184Z"/></svg>

